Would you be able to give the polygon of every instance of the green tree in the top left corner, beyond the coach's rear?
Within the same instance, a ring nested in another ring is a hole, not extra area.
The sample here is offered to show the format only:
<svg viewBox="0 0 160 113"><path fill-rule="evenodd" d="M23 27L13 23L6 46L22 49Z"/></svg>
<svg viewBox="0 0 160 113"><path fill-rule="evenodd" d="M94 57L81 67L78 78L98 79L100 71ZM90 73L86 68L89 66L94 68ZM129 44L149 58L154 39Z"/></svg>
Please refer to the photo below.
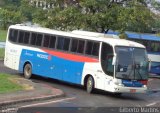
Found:
<svg viewBox="0 0 160 113"><path fill-rule="evenodd" d="M0 27L7 29L10 24L21 23L25 20L19 7L21 0L0 0Z"/></svg>

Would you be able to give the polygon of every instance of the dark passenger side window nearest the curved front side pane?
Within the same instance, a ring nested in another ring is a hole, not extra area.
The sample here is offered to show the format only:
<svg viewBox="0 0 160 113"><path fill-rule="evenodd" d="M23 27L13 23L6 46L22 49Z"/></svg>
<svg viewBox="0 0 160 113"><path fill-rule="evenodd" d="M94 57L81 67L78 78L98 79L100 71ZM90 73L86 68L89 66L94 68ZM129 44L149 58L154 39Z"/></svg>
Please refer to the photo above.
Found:
<svg viewBox="0 0 160 113"><path fill-rule="evenodd" d="M87 41L85 54L98 56L99 54L99 43L94 41Z"/></svg>

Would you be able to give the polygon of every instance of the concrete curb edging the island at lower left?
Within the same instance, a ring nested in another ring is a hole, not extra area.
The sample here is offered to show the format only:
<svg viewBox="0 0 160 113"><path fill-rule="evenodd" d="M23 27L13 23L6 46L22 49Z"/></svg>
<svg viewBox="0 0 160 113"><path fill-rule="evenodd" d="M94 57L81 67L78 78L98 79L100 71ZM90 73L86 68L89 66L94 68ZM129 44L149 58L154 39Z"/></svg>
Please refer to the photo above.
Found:
<svg viewBox="0 0 160 113"><path fill-rule="evenodd" d="M56 90L58 91L58 89L56 89ZM23 103L23 102L49 100L49 99L54 99L54 98L64 97L64 96L65 96L64 92L59 90L59 93L56 95L32 97L32 98L19 99L19 100L13 100L13 101L4 101L4 102L0 102L0 106L2 107L2 106L6 106L6 105L14 105L14 104Z"/></svg>

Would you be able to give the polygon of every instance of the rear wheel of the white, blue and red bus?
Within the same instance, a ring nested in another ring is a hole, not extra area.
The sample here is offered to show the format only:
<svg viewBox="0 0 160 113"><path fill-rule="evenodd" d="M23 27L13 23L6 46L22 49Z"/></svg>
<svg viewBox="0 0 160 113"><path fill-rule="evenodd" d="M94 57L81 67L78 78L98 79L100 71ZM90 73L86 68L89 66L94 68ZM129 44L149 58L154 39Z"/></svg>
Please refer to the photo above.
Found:
<svg viewBox="0 0 160 113"><path fill-rule="evenodd" d="M29 79L29 78L31 78L31 76L32 76L32 66L31 66L31 64L26 64L24 66L24 77L26 79Z"/></svg>

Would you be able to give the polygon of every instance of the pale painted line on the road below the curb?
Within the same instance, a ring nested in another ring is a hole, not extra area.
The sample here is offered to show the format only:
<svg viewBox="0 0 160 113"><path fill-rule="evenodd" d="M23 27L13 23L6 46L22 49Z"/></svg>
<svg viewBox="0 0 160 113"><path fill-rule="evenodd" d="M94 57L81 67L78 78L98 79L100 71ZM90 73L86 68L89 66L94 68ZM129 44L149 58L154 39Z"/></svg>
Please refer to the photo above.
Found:
<svg viewBox="0 0 160 113"><path fill-rule="evenodd" d="M45 105L45 104L62 102L62 101L66 101L66 100L74 100L75 98L76 98L76 97L65 98L65 99L60 99L60 100L55 100L55 101L49 101L49 102L43 102L43 103L30 104L30 105L21 106L20 108L34 107L34 106L39 106L39 105Z"/></svg>

